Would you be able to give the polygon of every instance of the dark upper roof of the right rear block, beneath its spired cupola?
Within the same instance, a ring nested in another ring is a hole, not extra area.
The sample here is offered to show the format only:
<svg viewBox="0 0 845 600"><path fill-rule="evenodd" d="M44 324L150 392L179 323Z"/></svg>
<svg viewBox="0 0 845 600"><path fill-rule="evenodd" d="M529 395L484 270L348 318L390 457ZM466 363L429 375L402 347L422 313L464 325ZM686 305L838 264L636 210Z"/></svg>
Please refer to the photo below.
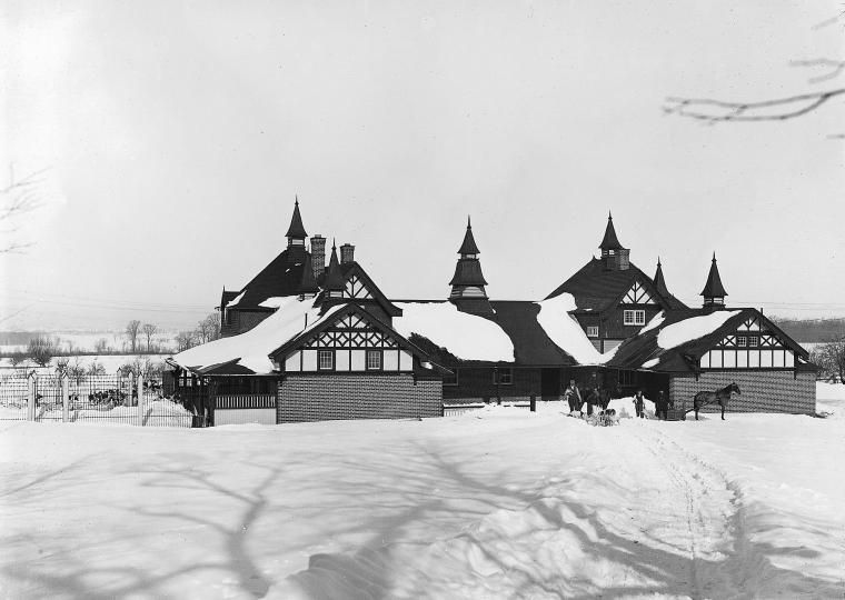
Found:
<svg viewBox="0 0 845 600"><path fill-rule="evenodd" d="M652 278L640 271L633 262L626 270L607 270L604 262L597 258L590 259L578 272L549 293L546 299L568 292L575 298L577 311L589 309L600 312L618 304L635 280L639 280L664 309L686 308L686 304L674 296L657 293Z"/></svg>

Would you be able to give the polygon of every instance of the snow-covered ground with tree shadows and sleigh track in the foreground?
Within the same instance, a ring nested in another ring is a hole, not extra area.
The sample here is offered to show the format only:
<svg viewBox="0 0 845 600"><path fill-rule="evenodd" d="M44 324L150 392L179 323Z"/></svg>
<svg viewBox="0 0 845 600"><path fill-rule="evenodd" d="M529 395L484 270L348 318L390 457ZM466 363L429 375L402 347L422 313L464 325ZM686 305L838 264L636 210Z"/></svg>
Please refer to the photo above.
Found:
<svg viewBox="0 0 845 600"><path fill-rule="evenodd" d="M6 598L842 598L827 419L0 424Z"/></svg>

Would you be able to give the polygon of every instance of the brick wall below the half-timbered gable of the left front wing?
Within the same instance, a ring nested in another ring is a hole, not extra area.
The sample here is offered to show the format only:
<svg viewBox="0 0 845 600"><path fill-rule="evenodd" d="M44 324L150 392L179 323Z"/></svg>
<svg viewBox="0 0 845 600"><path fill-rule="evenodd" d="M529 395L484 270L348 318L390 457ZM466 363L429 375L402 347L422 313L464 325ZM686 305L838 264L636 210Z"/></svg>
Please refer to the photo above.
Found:
<svg viewBox="0 0 845 600"><path fill-rule="evenodd" d="M440 417L443 382L410 373L291 374L279 382L279 423Z"/></svg>

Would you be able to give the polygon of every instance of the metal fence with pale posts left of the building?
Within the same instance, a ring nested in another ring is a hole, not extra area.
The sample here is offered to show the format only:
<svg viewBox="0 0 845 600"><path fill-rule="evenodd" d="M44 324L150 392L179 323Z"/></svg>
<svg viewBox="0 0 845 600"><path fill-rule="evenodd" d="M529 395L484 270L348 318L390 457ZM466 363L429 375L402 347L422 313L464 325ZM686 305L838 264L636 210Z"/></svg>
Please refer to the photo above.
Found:
<svg viewBox="0 0 845 600"><path fill-rule="evenodd" d="M192 427L193 412L143 377L14 373L0 377L0 420Z"/></svg>

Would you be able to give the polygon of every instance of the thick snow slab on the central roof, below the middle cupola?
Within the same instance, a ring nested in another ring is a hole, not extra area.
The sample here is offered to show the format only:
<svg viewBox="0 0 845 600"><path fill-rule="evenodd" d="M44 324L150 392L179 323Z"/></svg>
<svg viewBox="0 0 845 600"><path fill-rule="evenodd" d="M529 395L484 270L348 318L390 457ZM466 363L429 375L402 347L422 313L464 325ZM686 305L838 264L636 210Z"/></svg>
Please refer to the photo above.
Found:
<svg viewBox="0 0 845 600"><path fill-rule="evenodd" d="M394 302L402 311L394 329L409 338L417 333L461 360L514 361L514 343L495 322L460 312L451 302Z"/></svg>

